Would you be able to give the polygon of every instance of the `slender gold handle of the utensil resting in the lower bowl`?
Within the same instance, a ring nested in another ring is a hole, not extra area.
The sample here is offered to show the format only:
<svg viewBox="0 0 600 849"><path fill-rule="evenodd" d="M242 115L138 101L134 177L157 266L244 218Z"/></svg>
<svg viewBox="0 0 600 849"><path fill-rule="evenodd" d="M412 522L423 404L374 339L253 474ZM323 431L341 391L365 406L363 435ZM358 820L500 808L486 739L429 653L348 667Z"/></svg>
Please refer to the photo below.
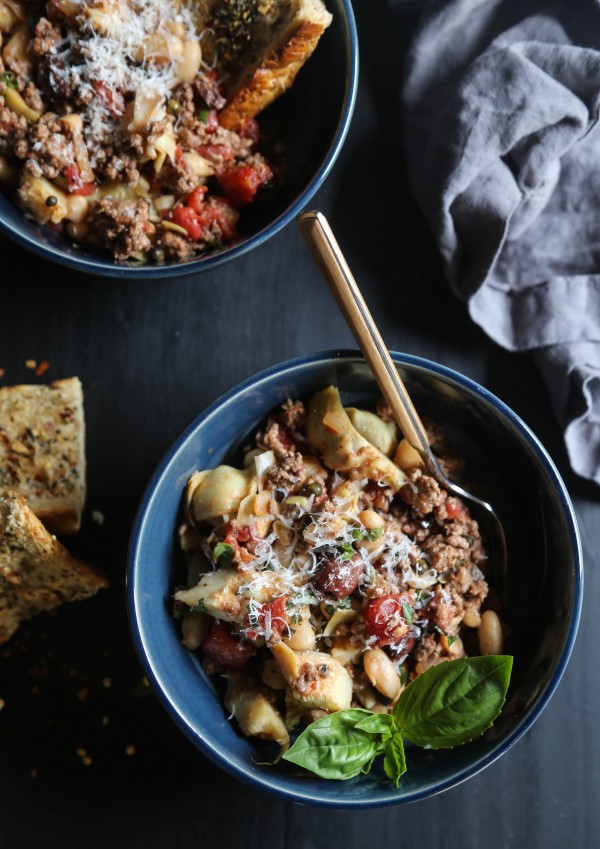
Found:
<svg viewBox="0 0 600 849"><path fill-rule="evenodd" d="M421 455L429 457L429 443L423 423L375 326L327 219L321 212L303 212L298 216L298 225L384 398L392 408L400 430L413 448Z"/></svg>

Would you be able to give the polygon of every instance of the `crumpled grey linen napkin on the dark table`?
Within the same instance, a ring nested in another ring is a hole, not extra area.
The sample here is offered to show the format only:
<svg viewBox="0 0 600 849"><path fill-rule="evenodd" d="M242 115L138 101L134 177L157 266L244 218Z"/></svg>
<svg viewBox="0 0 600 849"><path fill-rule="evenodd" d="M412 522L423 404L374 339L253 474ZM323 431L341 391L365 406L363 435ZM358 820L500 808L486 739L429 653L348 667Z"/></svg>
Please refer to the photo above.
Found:
<svg viewBox="0 0 600 849"><path fill-rule="evenodd" d="M599 0L426 3L403 102L452 287L535 352L571 465L600 483Z"/></svg>

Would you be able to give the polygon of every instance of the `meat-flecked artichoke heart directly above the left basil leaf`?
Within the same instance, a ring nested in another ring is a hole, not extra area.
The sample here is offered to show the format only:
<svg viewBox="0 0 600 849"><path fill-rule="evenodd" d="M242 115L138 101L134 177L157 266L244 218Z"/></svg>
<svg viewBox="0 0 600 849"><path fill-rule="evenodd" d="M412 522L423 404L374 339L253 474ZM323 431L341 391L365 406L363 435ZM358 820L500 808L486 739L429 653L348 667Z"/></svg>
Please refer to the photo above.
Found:
<svg viewBox="0 0 600 849"><path fill-rule="evenodd" d="M350 707L352 678L331 655L292 651L283 642L271 646L271 652L292 696L303 707L330 712Z"/></svg>

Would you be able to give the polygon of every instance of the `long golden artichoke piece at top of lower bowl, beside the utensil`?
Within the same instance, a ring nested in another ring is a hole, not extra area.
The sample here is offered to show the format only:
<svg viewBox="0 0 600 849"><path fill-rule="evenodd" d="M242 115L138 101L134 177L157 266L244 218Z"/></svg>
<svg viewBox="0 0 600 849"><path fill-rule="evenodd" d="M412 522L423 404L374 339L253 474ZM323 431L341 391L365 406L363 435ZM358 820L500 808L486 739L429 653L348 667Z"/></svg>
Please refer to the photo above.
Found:
<svg viewBox="0 0 600 849"><path fill-rule="evenodd" d="M311 398L306 430L309 441L319 449L330 469L348 472L354 478L377 480L394 490L406 482L404 472L356 430L335 386Z"/></svg>

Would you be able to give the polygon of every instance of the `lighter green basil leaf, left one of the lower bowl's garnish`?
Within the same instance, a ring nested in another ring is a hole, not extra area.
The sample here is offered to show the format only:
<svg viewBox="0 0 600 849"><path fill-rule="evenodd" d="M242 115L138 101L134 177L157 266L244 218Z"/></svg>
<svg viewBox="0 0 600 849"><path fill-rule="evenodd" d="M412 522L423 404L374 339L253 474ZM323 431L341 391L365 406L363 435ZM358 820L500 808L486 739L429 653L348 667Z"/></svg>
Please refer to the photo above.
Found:
<svg viewBox="0 0 600 849"><path fill-rule="evenodd" d="M283 756L321 778L347 779L370 768L381 751L381 738L357 728L371 713L350 708L312 722ZM368 769L366 770L368 772Z"/></svg>

